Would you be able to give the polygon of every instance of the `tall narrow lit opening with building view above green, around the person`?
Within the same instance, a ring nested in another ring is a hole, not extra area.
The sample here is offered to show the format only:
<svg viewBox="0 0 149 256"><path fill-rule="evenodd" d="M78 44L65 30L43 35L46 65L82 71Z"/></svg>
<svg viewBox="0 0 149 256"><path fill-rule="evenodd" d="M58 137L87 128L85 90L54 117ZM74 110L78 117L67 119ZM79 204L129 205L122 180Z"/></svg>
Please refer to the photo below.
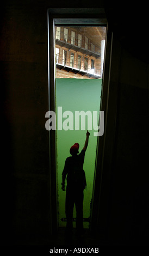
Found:
<svg viewBox="0 0 149 256"><path fill-rule="evenodd" d="M84 190L83 217L84 228L90 228L98 139L97 136L94 136L93 112L97 112L96 126L98 126L106 27L89 25L86 27L81 25L67 27L63 24L59 26L55 24L54 31L58 226L66 227L66 192L61 190L65 160L71 156L70 147L74 143L79 143L79 152L82 150L86 130L89 130L89 145L84 160L87 187ZM82 111L91 113L91 128L90 125L88 126L89 115L86 114L85 119L80 117L79 129L76 129L75 113ZM75 205L73 218L73 227L75 228Z"/></svg>

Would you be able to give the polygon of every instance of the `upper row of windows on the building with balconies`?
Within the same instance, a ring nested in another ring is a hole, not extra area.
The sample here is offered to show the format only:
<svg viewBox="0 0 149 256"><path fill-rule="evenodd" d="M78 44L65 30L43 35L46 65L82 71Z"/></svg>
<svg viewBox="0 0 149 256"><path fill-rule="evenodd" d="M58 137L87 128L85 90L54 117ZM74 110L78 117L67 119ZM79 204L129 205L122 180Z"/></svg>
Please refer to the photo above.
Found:
<svg viewBox="0 0 149 256"><path fill-rule="evenodd" d="M61 27L57 27L56 28L56 39L58 40L61 40ZM68 37L69 35L69 29L67 28L64 28L64 34L62 35L62 38L65 42L68 42ZM70 44L74 45L75 44L75 36L76 36L76 33L74 31L71 31L71 38L70 38ZM84 40L83 40L83 35L81 34L77 34L77 45L79 47L84 47L86 50L88 50L88 45L89 45L89 39L87 36L84 36ZM92 52L95 52L95 45L92 44L91 42L91 51Z"/></svg>

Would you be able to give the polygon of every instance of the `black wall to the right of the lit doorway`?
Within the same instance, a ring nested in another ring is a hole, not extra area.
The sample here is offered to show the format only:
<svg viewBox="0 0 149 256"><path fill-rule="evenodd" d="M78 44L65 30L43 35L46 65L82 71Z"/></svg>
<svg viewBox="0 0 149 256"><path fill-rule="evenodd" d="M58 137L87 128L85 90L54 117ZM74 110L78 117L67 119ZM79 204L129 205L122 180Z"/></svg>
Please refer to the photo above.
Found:
<svg viewBox="0 0 149 256"><path fill-rule="evenodd" d="M114 45L117 41L119 46L117 52L120 48L119 69L111 67L113 74L110 81L112 89L114 73L117 73L117 113L107 233L111 240L148 244L147 13L144 2L129 8L126 3L121 3L121 6L105 4L105 13L114 33ZM141 22L135 26L138 17ZM136 38L139 31L144 34L142 42Z"/></svg>

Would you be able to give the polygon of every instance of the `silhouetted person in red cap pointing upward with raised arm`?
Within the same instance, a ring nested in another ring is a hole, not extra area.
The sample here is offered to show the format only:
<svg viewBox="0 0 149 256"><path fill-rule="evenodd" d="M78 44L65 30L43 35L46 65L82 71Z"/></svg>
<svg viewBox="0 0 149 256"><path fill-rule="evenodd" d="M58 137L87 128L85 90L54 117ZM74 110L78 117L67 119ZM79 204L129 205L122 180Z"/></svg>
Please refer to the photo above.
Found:
<svg viewBox="0 0 149 256"><path fill-rule="evenodd" d="M66 202L65 213L67 218L66 230L67 233L72 231L72 218L74 203L76 205L76 229L78 234L83 232L83 198L84 188L86 187L85 172L83 170L85 151L88 147L90 133L86 132L86 140L84 148L79 154L79 144L75 143L70 148L70 154L72 156L67 157L65 161L64 170L62 173L62 190L65 190L65 178L67 175L67 187L66 187Z"/></svg>

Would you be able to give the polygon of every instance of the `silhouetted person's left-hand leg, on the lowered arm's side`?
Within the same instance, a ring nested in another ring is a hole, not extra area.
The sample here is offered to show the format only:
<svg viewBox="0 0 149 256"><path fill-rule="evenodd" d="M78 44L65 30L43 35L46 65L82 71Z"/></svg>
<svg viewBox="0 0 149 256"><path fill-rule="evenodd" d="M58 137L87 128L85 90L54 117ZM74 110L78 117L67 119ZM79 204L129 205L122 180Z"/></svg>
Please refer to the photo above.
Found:
<svg viewBox="0 0 149 256"><path fill-rule="evenodd" d="M73 207L74 207L73 192L71 190L66 190L65 213L67 218L66 230L68 232L72 231Z"/></svg>

